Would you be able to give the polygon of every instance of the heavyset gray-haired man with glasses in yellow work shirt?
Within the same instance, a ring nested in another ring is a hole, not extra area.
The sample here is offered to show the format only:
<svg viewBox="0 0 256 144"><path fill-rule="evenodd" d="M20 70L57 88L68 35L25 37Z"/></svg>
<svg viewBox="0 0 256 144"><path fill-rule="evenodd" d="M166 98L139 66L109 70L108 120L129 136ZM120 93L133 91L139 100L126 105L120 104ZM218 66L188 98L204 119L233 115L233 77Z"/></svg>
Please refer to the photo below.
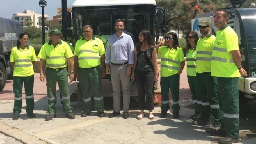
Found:
<svg viewBox="0 0 256 144"><path fill-rule="evenodd" d="M93 36L92 26L83 26L83 38L77 41L74 55L76 77L80 79L80 88L83 96L83 113L81 117L88 116L93 109L98 112L98 117L104 117L101 78L106 76L105 48L103 42ZM100 61L102 68L100 67ZM90 95L91 87L93 99Z"/></svg>

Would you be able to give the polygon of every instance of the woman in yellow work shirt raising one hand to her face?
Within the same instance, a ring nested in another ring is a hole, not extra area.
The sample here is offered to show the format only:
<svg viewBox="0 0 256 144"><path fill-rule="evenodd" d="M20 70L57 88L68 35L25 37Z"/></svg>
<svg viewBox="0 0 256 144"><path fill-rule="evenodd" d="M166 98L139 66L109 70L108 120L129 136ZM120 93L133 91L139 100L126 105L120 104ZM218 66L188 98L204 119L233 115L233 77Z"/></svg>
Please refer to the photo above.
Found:
<svg viewBox="0 0 256 144"><path fill-rule="evenodd" d="M159 47L159 48L158 48ZM179 47L176 33L168 33L168 36L156 46L161 55L161 95L162 106L160 117L167 115L169 106L169 89L173 98L173 118L179 118L179 77L185 65L183 50Z"/></svg>

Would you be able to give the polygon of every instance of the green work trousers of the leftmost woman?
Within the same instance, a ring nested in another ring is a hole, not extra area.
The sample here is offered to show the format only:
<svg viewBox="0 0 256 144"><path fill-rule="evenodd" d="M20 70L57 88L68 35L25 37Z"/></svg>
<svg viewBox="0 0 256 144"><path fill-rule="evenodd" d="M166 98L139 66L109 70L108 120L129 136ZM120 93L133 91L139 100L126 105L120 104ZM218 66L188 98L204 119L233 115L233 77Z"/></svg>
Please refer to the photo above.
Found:
<svg viewBox="0 0 256 144"><path fill-rule="evenodd" d="M33 113L35 106L33 88L34 88L34 74L28 77L13 77L13 92L14 92L14 106L13 114L19 115L22 107L22 85L24 83L25 94L26 94L26 112Z"/></svg>

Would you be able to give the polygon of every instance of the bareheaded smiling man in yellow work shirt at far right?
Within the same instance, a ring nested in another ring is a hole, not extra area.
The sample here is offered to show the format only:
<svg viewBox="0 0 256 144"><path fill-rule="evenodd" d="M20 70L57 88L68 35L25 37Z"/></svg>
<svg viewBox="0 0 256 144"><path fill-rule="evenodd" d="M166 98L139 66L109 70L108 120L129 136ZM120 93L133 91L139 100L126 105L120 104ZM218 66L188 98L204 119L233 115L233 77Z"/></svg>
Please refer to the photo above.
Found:
<svg viewBox="0 0 256 144"><path fill-rule="evenodd" d="M211 131L212 136L222 136L221 144L239 141L238 77L247 76L241 65L241 54L236 32L227 24L229 13L217 10L214 26L218 29L211 57L211 76L217 78L223 121L221 128Z"/></svg>

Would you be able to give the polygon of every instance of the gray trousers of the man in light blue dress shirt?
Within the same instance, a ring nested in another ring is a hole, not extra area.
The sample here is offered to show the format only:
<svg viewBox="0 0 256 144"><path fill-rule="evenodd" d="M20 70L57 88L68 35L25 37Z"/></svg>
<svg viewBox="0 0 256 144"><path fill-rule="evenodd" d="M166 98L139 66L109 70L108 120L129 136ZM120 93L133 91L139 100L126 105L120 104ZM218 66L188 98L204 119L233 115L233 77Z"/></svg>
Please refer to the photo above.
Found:
<svg viewBox="0 0 256 144"><path fill-rule="evenodd" d="M120 104L121 104L121 85L123 90L123 111L129 111L130 105L130 76L126 76L126 69L128 64L114 66L110 64L111 70L111 81L113 88L113 101L114 101L114 109L116 112L120 112Z"/></svg>

